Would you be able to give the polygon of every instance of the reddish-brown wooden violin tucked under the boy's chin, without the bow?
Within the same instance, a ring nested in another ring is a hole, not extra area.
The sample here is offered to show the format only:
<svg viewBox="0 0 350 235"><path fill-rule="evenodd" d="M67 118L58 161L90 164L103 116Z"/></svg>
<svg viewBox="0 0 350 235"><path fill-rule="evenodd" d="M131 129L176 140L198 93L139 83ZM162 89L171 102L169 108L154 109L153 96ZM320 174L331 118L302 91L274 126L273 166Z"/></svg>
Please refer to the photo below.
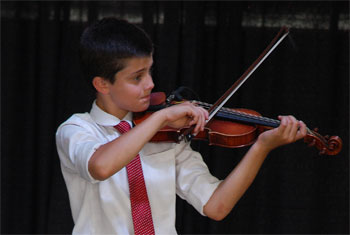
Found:
<svg viewBox="0 0 350 235"><path fill-rule="evenodd" d="M166 102L166 95L163 92L151 94L149 108L141 113L134 113L135 125L143 122L152 113L170 105L179 104L182 101ZM191 101L205 109L210 109L211 104L201 101ZM257 137L266 130L278 127L279 120L262 117L260 113L250 109L231 109L221 108L211 119L204 130L193 136L195 140L208 141L209 145L216 145L226 148L239 148L253 144ZM178 143L180 136L188 130L189 127L175 129L166 126L159 130L150 140L150 142L175 142ZM304 142L320 150L320 154L336 155L342 149L342 140L338 136L322 136L317 130L307 129Z"/></svg>

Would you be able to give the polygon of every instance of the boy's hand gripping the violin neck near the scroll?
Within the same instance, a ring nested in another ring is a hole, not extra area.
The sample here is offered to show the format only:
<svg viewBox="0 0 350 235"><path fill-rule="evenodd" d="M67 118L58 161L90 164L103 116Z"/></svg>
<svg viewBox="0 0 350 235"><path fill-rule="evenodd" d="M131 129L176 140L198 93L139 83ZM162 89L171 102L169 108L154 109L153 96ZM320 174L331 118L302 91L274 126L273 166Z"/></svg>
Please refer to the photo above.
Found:
<svg viewBox="0 0 350 235"><path fill-rule="evenodd" d="M306 135L306 125L293 116L278 116L280 126L263 132L257 142L267 151L271 151L281 145L293 143Z"/></svg>

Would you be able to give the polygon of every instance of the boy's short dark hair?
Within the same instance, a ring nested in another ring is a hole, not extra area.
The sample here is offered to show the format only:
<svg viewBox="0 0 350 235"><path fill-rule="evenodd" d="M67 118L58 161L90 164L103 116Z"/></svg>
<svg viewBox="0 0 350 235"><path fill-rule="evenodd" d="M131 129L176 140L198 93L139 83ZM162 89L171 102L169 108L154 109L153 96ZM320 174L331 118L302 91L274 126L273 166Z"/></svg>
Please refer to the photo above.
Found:
<svg viewBox="0 0 350 235"><path fill-rule="evenodd" d="M152 41L141 28L116 18L92 24L80 38L80 61L90 84L96 76L113 84L114 75L125 66L125 59L151 56L152 52Z"/></svg>

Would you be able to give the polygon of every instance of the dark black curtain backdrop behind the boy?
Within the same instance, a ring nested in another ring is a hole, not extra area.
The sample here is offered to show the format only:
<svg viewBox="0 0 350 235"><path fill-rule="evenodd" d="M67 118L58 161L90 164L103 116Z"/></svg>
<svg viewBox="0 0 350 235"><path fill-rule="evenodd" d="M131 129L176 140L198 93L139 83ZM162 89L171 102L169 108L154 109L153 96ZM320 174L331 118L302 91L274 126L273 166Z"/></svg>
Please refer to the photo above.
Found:
<svg viewBox="0 0 350 235"><path fill-rule="evenodd" d="M177 230L194 233L349 233L349 4L344 2L1 2L1 232L71 233L55 131L90 110L77 46L103 16L143 27L155 44L155 91L188 86L214 102L278 32L287 38L226 106L293 114L343 139L337 156L303 141L269 155L223 221L177 201ZM193 142L223 179L248 148Z"/></svg>

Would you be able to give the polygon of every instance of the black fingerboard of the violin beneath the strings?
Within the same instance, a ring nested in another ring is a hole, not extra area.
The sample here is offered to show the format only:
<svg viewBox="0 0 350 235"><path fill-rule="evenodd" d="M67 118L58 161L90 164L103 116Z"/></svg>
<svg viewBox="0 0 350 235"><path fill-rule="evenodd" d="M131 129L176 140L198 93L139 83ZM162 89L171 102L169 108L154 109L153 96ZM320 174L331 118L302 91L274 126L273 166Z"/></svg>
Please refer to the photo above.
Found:
<svg viewBox="0 0 350 235"><path fill-rule="evenodd" d="M195 101L195 103L205 109L209 109L211 107L211 104L208 104L205 102ZM246 112L233 110L229 108L221 108L216 113L215 117L231 120L231 121L242 122L246 124L254 124L254 125L267 126L267 127L273 127L273 128L278 127L280 125L279 120L262 117L254 114L249 114Z"/></svg>

